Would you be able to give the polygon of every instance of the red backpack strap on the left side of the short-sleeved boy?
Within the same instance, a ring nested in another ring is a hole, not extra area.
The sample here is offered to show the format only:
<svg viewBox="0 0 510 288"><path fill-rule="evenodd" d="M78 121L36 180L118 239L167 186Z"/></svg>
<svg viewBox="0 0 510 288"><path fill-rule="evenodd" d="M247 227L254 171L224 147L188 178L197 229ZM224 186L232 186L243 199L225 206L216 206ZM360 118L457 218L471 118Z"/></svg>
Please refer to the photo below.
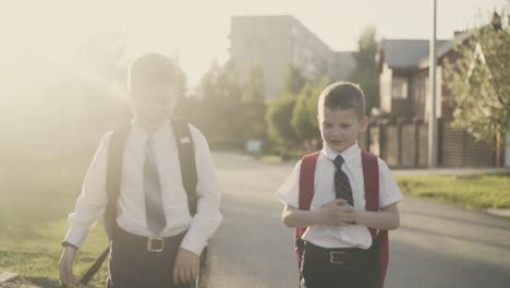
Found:
<svg viewBox="0 0 510 288"><path fill-rule="evenodd" d="M299 196L299 209L309 211L309 205L314 197L314 178L315 167L317 166L317 159L320 155L320 151L305 155L301 159L300 170L300 196ZM294 250L298 254L298 266L301 266L301 257L303 255L304 242L301 239L307 227L295 228L294 237ZM301 269L300 269L301 271Z"/></svg>

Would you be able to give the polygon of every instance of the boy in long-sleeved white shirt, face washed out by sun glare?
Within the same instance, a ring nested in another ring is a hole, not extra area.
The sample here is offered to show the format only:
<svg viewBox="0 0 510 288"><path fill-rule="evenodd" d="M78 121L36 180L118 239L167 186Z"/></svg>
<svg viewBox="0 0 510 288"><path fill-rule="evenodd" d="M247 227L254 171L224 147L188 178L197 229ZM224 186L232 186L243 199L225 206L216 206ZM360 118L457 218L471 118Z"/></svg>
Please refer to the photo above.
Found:
<svg viewBox="0 0 510 288"><path fill-rule="evenodd" d="M170 120L177 91L170 59L147 53L133 61L134 119L105 135L89 166L63 241L64 285L74 281L76 253L104 212L111 240L107 287L190 287L195 278L199 256L222 220L220 193L204 135Z"/></svg>

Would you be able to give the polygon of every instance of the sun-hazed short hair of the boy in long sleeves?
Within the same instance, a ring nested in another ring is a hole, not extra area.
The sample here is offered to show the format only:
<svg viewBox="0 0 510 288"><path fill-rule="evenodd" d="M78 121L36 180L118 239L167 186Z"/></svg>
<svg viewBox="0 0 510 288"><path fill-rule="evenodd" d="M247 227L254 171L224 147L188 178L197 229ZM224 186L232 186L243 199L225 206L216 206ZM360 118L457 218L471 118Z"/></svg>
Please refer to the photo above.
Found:
<svg viewBox="0 0 510 288"><path fill-rule="evenodd" d="M137 84L177 86L177 72L173 62L160 53L146 53L136 58L130 67L130 89Z"/></svg>

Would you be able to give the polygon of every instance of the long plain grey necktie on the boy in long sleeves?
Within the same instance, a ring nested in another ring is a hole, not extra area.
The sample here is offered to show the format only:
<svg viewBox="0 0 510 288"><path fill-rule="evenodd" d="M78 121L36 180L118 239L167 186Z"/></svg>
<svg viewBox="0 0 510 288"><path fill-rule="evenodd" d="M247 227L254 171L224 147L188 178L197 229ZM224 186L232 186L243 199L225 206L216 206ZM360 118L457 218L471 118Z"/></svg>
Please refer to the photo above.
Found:
<svg viewBox="0 0 510 288"><path fill-rule="evenodd" d="M153 144L153 137L148 137L145 143L144 164L145 213L148 229L155 236L159 236L165 227L167 227L167 218L165 217L159 173Z"/></svg>

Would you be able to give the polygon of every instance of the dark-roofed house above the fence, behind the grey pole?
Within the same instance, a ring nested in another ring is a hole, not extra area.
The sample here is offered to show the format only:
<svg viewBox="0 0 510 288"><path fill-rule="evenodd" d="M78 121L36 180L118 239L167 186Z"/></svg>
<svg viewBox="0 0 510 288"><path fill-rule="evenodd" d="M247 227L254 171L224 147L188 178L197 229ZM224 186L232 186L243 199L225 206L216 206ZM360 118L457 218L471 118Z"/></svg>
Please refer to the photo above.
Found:
<svg viewBox="0 0 510 288"><path fill-rule="evenodd" d="M444 85L445 62L457 57L454 45L465 41L469 35L457 33L452 39L437 41L436 111L439 118L452 119L452 107ZM382 39L378 58L379 100L384 113L400 119L427 120L428 50L426 39Z"/></svg>

